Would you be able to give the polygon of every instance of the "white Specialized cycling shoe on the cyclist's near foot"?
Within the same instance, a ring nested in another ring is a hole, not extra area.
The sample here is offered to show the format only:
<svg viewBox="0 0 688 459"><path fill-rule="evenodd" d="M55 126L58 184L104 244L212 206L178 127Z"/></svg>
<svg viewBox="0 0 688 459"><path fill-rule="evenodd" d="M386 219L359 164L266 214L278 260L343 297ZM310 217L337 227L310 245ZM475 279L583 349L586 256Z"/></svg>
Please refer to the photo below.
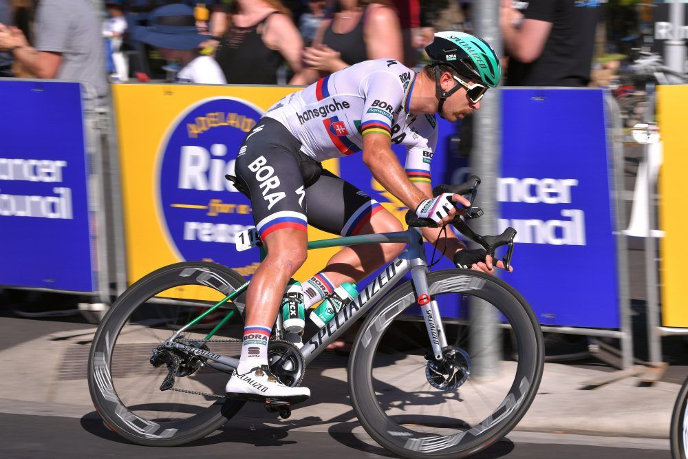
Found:
<svg viewBox="0 0 688 459"><path fill-rule="evenodd" d="M238 374L234 370L227 381L225 392L230 398L263 402L266 400L299 403L310 397L308 387L290 387L280 383L267 365Z"/></svg>

